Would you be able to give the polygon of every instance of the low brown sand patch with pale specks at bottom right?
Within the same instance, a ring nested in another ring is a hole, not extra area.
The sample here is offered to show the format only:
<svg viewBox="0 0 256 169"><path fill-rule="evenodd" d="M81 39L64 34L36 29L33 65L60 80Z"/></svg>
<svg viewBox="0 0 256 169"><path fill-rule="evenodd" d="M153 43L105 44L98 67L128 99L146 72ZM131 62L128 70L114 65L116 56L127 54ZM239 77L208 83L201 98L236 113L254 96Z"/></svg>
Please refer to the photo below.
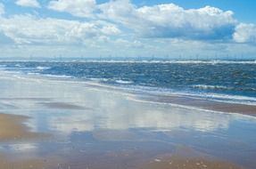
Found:
<svg viewBox="0 0 256 169"><path fill-rule="evenodd" d="M242 166L209 157L187 147L177 147L172 154L154 157L138 169L242 169Z"/></svg>

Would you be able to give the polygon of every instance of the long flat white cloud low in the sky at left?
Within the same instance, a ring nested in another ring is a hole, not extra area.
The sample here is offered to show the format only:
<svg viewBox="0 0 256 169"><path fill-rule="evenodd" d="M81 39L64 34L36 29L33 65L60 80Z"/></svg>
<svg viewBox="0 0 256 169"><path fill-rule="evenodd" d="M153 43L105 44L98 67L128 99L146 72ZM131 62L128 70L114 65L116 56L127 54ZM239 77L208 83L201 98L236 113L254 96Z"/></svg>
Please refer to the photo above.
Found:
<svg viewBox="0 0 256 169"><path fill-rule="evenodd" d="M107 22L41 19L16 15L0 19L0 31L16 44L84 44L102 36L116 35L118 28Z"/></svg>

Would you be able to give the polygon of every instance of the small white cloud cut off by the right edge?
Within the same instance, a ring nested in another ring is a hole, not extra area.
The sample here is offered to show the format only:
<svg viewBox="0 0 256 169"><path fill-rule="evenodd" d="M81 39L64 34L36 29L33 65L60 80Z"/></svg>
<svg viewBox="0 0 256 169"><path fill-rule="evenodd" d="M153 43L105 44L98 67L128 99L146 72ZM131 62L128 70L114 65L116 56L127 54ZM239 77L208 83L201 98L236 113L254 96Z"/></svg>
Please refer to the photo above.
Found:
<svg viewBox="0 0 256 169"><path fill-rule="evenodd" d="M233 38L236 43L256 43L256 25L240 23L235 28Z"/></svg>

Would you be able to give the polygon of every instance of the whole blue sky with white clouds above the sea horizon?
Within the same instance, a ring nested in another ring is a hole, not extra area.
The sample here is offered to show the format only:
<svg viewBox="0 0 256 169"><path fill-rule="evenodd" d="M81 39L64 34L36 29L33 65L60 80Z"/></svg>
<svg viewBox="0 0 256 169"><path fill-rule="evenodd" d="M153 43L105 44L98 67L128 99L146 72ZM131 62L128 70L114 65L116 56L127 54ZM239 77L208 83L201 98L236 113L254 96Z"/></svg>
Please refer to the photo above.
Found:
<svg viewBox="0 0 256 169"><path fill-rule="evenodd" d="M255 0L0 0L0 58L256 59Z"/></svg>

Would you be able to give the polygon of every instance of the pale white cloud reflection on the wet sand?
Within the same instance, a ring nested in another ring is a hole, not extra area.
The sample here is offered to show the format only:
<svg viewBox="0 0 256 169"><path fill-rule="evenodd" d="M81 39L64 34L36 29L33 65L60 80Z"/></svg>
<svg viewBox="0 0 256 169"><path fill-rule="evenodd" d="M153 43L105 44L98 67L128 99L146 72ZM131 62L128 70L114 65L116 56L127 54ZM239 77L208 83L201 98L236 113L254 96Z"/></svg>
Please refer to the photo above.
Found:
<svg viewBox="0 0 256 169"><path fill-rule="evenodd" d="M128 103L128 102L127 102ZM121 106L111 105L108 108L98 108L87 113L62 113L62 116L48 118L48 126L55 130L70 133L76 131L94 131L97 128L108 130L128 130L129 128L147 128L153 131L171 131L183 128L193 128L197 131L210 132L228 127L229 116L204 112L193 112L188 109L172 108L171 110L147 105L145 108L136 102L133 107L122 109ZM117 113L118 112L118 113ZM200 116L200 118L198 118Z"/></svg>

